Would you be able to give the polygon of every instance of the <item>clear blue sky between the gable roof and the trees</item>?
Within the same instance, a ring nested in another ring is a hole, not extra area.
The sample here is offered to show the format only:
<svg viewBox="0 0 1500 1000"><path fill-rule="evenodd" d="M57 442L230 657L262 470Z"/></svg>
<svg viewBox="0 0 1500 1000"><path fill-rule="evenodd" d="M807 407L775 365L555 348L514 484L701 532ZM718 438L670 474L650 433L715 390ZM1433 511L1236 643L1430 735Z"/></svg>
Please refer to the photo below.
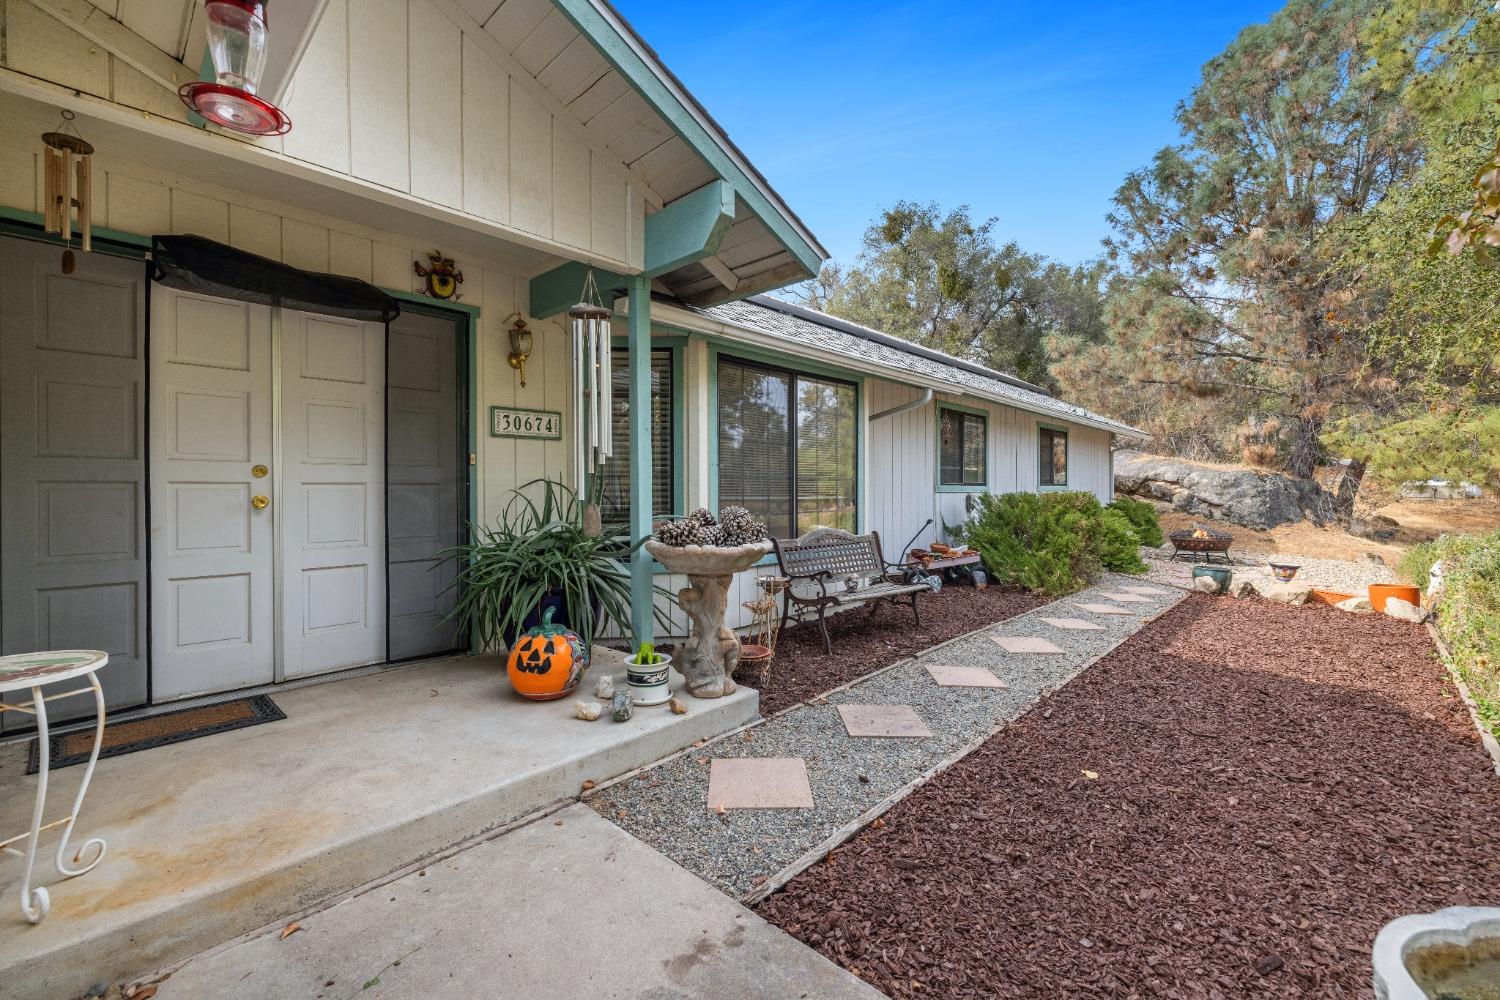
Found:
<svg viewBox="0 0 1500 1000"><path fill-rule="evenodd" d="M615 1L838 261L902 198L1096 256L1110 196L1176 139L1202 64L1281 6Z"/></svg>

